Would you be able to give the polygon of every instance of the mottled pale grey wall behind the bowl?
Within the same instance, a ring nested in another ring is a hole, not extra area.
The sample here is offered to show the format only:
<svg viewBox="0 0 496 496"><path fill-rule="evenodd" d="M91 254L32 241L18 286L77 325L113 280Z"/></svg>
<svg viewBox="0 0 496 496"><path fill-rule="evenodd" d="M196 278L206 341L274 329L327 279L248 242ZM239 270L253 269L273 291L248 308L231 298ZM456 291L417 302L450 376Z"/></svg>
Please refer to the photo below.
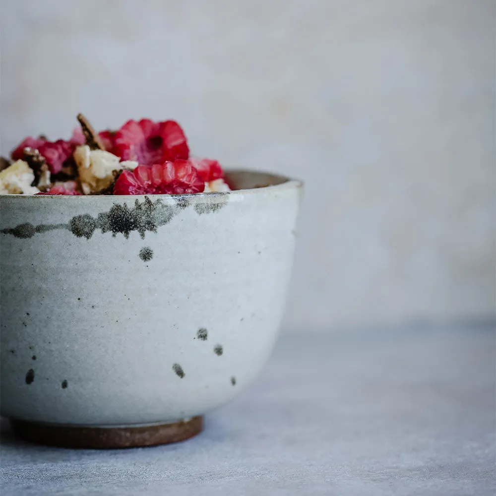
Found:
<svg viewBox="0 0 496 496"><path fill-rule="evenodd" d="M490 0L7 1L1 151L174 118L307 183L285 326L491 318Z"/></svg>

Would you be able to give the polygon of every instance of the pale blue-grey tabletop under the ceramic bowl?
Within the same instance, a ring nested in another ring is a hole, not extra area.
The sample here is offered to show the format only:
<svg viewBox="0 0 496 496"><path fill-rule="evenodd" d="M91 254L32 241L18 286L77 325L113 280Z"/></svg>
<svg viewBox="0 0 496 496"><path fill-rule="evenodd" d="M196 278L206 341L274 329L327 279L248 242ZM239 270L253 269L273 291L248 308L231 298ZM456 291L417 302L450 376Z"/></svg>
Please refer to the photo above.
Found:
<svg viewBox="0 0 496 496"><path fill-rule="evenodd" d="M494 495L493 324L283 335L261 377L183 443L19 442L2 496Z"/></svg>

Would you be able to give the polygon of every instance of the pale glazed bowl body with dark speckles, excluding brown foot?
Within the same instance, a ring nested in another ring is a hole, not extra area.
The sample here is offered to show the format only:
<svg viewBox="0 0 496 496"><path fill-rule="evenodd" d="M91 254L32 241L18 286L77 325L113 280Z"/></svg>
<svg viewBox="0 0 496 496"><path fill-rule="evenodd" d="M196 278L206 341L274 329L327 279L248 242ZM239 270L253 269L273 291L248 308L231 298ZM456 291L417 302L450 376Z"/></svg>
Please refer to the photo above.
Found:
<svg viewBox="0 0 496 496"><path fill-rule="evenodd" d="M228 176L240 190L0 197L1 415L176 422L256 376L282 316L302 185Z"/></svg>

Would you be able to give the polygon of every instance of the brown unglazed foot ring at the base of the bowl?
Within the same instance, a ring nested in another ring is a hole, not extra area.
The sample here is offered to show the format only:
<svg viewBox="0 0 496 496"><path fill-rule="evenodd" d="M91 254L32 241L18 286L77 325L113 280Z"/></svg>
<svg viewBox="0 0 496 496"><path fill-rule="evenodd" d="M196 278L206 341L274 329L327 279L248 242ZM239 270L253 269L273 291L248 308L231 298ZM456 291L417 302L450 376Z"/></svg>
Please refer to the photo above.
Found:
<svg viewBox="0 0 496 496"><path fill-rule="evenodd" d="M29 442L62 448L132 448L184 441L203 429L203 417L143 427L70 427L10 419L14 433Z"/></svg>

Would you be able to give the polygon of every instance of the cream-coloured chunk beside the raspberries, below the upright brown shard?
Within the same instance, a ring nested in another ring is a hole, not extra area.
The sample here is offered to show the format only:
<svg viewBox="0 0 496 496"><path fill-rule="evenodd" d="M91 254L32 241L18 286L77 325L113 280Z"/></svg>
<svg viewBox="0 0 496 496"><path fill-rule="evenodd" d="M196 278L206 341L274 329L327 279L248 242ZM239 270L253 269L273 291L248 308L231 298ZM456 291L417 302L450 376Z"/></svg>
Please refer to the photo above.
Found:
<svg viewBox="0 0 496 496"><path fill-rule="evenodd" d="M88 145L78 146L74 151L79 179L84 194L97 193L114 183L114 172L133 170L138 163L119 162L119 157L104 150L90 150Z"/></svg>

